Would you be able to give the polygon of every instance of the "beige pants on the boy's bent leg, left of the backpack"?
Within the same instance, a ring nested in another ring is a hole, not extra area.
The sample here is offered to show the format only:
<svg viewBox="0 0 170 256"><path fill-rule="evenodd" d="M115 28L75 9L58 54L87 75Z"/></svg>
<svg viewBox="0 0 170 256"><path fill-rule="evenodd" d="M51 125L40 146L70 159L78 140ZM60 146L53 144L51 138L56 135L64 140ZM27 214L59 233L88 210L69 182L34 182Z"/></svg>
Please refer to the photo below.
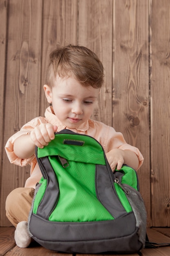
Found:
<svg viewBox="0 0 170 256"><path fill-rule="evenodd" d="M18 188L7 196L6 216L14 227L23 220L28 221L33 195L33 188Z"/></svg>

